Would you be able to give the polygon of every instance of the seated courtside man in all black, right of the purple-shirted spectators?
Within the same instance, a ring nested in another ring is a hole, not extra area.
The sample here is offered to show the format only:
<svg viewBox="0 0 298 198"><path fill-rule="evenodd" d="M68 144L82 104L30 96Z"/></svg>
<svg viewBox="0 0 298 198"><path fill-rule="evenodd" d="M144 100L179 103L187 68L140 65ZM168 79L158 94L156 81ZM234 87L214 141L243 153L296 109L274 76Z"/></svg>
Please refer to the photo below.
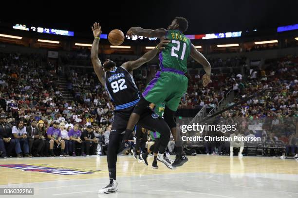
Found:
<svg viewBox="0 0 298 198"><path fill-rule="evenodd" d="M96 155L95 151L97 148L98 140L94 136L93 126L91 126L91 125L87 126L87 129L85 129L82 132L81 139L83 140L83 145L86 150L86 156Z"/></svg>

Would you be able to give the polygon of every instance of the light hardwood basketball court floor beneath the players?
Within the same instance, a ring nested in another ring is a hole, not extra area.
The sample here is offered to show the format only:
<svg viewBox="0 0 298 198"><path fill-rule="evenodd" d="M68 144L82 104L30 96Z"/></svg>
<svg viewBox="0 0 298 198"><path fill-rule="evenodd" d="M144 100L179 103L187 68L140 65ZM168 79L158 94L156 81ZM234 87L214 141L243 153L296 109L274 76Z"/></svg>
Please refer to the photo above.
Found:
<svg viewBox="0 0 298 198"><path fill-rule="evenodd" d="M34 196L25 197L38 198L298 196L296 160L198 155L170 170L161 163L159 169L152 169L152 159L149 157L149 166L145 166L132 156L118 156L119 191L107 195L97 194L109 182L106 156L1 159L0 187L33 187Z"/></svg>

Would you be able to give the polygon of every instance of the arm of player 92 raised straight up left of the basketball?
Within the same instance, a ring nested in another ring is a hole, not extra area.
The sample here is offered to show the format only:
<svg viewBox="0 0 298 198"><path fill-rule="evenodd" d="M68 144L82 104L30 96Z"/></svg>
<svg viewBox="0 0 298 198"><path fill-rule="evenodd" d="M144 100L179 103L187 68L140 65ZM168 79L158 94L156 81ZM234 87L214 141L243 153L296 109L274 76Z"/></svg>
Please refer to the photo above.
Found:
<svg viewBox="0 0 298 198"><path fill-rule="evenodd" d="M99 44L99 38L101 34L101 27L99 26L99 23L94 23L93 27L91 28L94 36L94 40L91 48L91 62L98 80L101 82L102 85L105 85L104 71L103 71L101 62L98 58L98 44Z"/></svg>

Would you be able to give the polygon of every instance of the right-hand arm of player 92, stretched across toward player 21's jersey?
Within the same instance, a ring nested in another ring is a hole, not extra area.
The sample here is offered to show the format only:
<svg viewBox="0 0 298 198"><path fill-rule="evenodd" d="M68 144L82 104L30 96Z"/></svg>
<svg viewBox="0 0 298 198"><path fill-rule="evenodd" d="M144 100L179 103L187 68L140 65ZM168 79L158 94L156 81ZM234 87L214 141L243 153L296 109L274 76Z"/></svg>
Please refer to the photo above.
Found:
<svg viewBox="0 0 298 198"><path fill-rule="evenodd" d="M151 61L157 54L159 50L165 49L165 45L168 45L169 40L162 40L154 49L146 52L141 58L135 61L128 61L125 62L122 66L128 71L131 72L132 70L142 66L143 64Z"/></svg>

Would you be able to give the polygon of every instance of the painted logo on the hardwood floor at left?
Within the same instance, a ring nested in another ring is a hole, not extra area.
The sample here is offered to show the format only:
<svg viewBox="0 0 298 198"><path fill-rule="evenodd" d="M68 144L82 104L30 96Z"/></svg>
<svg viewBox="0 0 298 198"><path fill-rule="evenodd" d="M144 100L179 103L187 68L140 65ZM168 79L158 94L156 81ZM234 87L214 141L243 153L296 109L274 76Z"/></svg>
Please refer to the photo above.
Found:
<svg viewBox="0 0 298 198"><path fill-rule="evenodd" d="M92 170L83 170L77 168L67 168L52 165L23 165L23 164L13 164L13 165L0 165L0 167L15 168L23 171L33 171L42 173L52 173L58 175L80 175L80 174L93 174L95 172Z"/></svg>

